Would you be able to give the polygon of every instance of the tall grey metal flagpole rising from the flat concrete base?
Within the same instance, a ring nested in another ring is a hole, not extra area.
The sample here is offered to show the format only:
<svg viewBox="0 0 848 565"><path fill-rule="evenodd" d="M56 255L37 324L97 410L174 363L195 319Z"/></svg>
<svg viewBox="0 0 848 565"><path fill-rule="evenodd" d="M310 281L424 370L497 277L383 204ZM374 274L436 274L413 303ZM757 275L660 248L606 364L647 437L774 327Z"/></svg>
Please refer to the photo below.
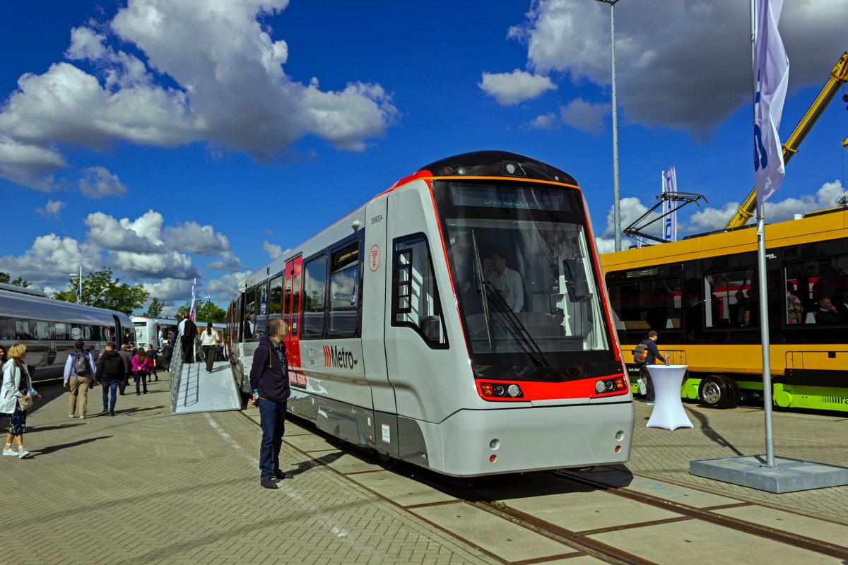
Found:
<svg viewBox="0 0 848 565"><path fill-rule="evenodd" d="M750 62L752 120L756 125L756 4L750 0ZM772 367L769 358L768 340L768 304L767 304L767 278L766 278L766 202L757 198L756 207L756 264L759 274L760 291L760 339L762 341L762 403L765 408L766 424L766 467L774 467L774 433L772 428Z"/></svg>

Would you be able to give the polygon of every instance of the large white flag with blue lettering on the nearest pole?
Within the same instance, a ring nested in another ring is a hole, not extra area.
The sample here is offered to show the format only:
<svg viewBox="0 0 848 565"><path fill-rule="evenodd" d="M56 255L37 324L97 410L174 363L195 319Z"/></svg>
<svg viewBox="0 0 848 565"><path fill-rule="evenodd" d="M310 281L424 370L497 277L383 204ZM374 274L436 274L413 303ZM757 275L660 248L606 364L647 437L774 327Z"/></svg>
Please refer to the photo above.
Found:
<svg viewBox="0 0 848 565"><path fill-rule="evenodd" d="M778 32L783 0L757 0L754 46L754 180L762 206L784 181L784 152L778 127L789 83L789 58Z"/></svg>

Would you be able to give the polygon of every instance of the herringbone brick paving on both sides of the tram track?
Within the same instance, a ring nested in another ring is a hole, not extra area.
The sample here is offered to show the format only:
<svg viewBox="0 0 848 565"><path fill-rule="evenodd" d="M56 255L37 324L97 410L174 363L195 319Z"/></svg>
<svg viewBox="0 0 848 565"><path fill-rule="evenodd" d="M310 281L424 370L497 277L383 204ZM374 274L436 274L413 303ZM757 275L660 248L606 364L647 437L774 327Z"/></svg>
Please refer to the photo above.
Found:
<svg viewBox="0 0 848 565"><path fill-rule="evenodd" d="M84 420L67 417L64 389L42 391L46 398L31 413L25 436L33 457L0 457L6 486L3 562L496 562L427 521L439 508L448 510L438 506L449 502L444 495L386 472L365 473L364 463L296 425L287 428L282 457L295 476L280 490L259 488L258 427L241 413L170 416L167 387L160 380L144 396L128 389L119 397L116 417ZM89 407L99 412L98 391L89 396ZM762 453L763 413L756 407L714 411L695 404L686 410L694 429L646 429L650 407L636 402L627 467L637 479L848 524L848 487L774 495L690 476L691 459ZM848 417L840 415L774 414L779 457L848 466L846 431ZM395 504L374 496L378 484L388 485ZM449 531L460 531L463 519L448 514L437 521L458 520Z"/></svg>

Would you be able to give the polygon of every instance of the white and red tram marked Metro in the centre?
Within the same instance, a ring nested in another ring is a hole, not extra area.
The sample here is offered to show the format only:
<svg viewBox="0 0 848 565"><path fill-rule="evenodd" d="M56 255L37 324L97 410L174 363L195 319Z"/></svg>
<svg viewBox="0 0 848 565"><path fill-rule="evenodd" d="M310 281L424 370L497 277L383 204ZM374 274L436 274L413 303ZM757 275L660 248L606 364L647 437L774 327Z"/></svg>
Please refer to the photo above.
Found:
<svg viewBox="0 0 848 565"><path fill-rule="evenodd" d="M233 365L247 394L282 318L288 411L343 440L457 476L622 463L633 395L602 280L571 176L466 153L244 281Z"/></svg>

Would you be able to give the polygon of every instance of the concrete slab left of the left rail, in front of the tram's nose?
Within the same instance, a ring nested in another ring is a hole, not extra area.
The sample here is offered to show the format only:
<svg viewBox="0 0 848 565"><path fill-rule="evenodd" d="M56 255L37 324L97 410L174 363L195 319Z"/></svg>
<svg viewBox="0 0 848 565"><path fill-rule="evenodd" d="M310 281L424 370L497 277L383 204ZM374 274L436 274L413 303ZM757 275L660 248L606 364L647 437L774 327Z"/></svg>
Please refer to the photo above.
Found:
<svg viewBox="0 0 848 565"><path fill-rule="evenodd" d="M506 562L577 553L544 535L464 502L412 508L410 512Z"/></svg>

